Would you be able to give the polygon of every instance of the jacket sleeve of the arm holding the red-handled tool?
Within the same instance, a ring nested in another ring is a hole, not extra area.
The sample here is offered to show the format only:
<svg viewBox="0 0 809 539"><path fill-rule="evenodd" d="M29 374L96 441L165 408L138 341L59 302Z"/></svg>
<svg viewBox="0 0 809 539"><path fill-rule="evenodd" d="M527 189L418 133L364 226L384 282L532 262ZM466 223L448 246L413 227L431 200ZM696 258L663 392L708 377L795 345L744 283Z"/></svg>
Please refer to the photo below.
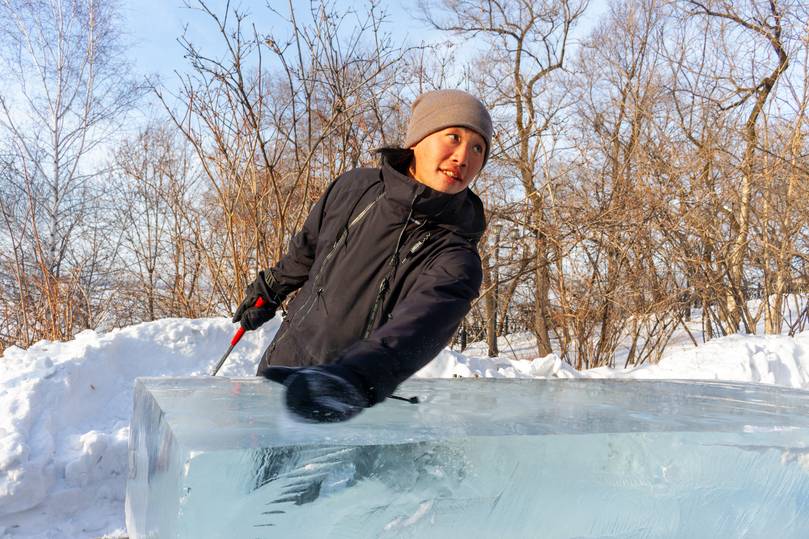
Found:
<svg viewBox="0 0 809 539"><path fill-rule="evenodd" d="M268 279L267 284L281 298L285 298L290 292L303 286L309 278L309 270L315 260L318 237L326 214L327 203L339 180L340 178L337 178L332 182L323 196L312 206L303 223L303 228L292 237L284 256L270 269L272 282Z"/></svg>

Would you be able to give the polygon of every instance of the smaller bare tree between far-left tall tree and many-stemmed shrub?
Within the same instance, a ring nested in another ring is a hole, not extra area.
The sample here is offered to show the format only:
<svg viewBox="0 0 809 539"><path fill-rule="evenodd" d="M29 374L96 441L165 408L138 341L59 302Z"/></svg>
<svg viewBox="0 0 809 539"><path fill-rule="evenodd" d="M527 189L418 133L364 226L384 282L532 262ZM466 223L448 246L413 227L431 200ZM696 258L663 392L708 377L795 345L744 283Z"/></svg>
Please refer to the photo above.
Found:
<svg viewBox="0 0 809 539"><path fill-rule="evenodd" d="M201 287L198 175L178 135L166 126L147 126L115 154L114 221L122 238L118 286L130 291L123 302L130 322L214 314L210 290Z"/></svg>

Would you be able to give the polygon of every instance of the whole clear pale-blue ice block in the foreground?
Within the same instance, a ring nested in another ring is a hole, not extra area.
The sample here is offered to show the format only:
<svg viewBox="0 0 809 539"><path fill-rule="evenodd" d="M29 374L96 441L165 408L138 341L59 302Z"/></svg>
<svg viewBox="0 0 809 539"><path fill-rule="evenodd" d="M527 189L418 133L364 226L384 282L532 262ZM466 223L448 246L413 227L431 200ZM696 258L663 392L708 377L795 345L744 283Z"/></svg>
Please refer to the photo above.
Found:
<svg viewBox="0 0 809 539"><path fill-rule="evenodd" d="M259 379L140 379L133 539L806 537L809 393L425 380L344 424Z"/></svg>

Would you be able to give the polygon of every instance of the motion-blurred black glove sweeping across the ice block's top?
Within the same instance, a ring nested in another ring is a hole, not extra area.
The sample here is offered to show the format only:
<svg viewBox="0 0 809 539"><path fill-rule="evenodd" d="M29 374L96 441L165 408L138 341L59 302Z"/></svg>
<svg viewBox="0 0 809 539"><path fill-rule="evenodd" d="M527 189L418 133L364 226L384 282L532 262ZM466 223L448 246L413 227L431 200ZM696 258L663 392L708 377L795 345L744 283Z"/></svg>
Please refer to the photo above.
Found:
<svg viewBox="0 0 809 539"><path fill-rule="evenodd" d="M362 379L338 364L267 367L261 374L286 386L287 408L304 421L347 421L371 406Z"/></svg>

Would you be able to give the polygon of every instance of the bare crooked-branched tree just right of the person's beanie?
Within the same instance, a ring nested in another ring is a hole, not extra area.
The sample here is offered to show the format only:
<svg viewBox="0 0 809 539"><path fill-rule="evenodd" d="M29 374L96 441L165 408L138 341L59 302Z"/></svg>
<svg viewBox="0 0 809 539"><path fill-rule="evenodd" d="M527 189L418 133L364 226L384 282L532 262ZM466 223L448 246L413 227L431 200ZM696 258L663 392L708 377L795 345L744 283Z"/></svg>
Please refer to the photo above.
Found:
<svg viewBox="0 0 809 539"><path fill-rule="evenodd" d="M492 155L514 170L530 201L534 235L536 295L534 333L539 355L550 354L550 249L548 182L538 168L543 134L560 107L548 103L547 81L562 68L568 40L586 1L423 2L422 11L435 28L475 38L490 47L472 75L496 115L505 119L496 130Z"/></svg>

